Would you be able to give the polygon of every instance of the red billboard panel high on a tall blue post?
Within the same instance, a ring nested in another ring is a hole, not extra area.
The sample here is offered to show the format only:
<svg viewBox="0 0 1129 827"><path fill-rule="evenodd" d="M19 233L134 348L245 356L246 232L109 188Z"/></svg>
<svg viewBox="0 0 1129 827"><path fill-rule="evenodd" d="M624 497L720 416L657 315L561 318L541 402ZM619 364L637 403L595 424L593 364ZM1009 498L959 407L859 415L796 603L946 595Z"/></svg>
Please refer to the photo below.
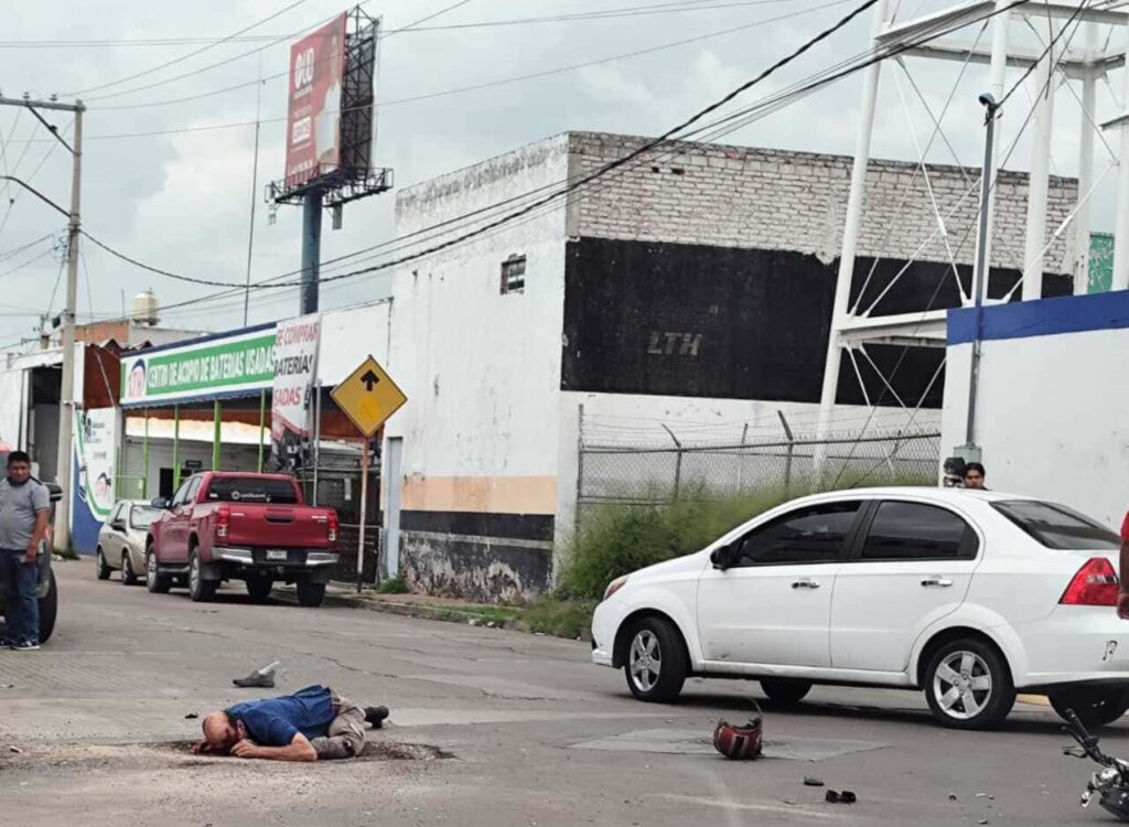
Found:
<svg viewBox="0 0 1129 827"><path fill-rule="evenodd" d="M287 188L299 186L341 165L347 19L342 14L290 47Z"/></svg>

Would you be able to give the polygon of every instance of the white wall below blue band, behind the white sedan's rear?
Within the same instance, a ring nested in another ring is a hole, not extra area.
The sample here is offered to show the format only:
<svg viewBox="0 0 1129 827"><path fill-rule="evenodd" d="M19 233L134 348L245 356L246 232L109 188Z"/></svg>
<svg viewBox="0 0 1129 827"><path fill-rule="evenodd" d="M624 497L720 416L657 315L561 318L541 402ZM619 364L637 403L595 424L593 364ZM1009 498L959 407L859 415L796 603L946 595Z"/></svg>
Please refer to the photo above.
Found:
<svg viewBox="0 0 1129 827"><path fill-rule="evenodd" d="M1096 298L1103 304L1097 312L1112 316L1114 295L1029 304L1050 305L1051 312L1056 304L1083 306L1079 299ZM1129 306L1123 299L1119 304ZM990 308L986 319L996 312ZM951 316L951 337L952 325ZM948 348L945 455L964 443L971 352L969 343ZM986 341L975 441L983 451L988 487L1060 502L1120 528L1129 507L1127 365L1129 329Z"/></svg>

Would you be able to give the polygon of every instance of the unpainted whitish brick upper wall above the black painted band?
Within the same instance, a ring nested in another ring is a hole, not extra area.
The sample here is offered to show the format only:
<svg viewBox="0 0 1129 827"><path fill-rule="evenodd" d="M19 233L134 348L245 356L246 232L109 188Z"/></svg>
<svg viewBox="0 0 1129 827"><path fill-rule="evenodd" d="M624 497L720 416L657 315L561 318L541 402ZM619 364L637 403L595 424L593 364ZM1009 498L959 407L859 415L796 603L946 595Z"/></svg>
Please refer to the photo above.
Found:
<svg viewBox="0 0 1129 827"><path fill-rule="evenodd" d="M572 132L570 173L592 172L645 140ZM570 204L569 233L790 250L831 261L841 245L851 163L846 156L676 141L633 162L628 172L613 173L614 185L583 190ZM973 260L979 173L957 166L929 166L933 198L946 216L945 235L960 263ZM1048 240L1073 209L1077 195L1075 179L1051 177ZM1027 175L1001 172L994 267L1023 269L1026 207ZM936 228L929 189L917 165L873 160L858 254L948 261L945 237L938 234L928 242ZM1069 256L1066 238L1060 237L1044 260L1044 271L1069 272Z"/></svg>

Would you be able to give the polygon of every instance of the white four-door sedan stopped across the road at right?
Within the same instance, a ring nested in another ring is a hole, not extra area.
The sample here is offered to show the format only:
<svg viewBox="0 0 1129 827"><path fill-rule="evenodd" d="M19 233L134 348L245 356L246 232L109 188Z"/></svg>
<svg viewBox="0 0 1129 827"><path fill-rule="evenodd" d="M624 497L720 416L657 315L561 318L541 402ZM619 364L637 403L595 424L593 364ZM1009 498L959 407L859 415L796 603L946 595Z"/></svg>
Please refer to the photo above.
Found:
<svg viewBox="0 0 1129 827"><path fill-rule="evenodd" d="M1129 708L1119 537L1053 503L944 488L796 499L697 554L607 586L593 661L641 700L688 676L924 689L947 726L986 729L1016 691L1089 724Z"/></svg>

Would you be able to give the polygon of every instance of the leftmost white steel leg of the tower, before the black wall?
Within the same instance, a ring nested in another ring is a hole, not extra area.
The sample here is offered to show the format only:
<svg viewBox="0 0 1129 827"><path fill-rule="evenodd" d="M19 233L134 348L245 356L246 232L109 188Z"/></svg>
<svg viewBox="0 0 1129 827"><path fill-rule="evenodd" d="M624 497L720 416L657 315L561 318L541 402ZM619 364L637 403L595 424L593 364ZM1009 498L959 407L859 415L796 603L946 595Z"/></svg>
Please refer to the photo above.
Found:
<svg viewBox="0 0 1129 827"><path fill-rule="evenodd" d="M878 36L886 25L886 0L878 0L874 7L874 23L870 28L870 47L881 49ZM866 173L870 162L870 137L874 133L874 110L878 99L878 76L882 62L876 61L866 69L863 80L863 106L859 114L858 136L855 139L855 164L851 167L850 194L847 197L847 215L843 218L843 243L839 253L839 275L835 279L834 306L831 311L831 330L828 338L828 358L823 368L823 390L820 393L821 437L831 424L831 412L839 394L839 364L842 360L840 330L850 315L850 286L855 277L855 254L858 250L858 230L863 224L863 201L866 198ZM826 451L816 447L816 476L821 477L826 461Z"/></svg>

